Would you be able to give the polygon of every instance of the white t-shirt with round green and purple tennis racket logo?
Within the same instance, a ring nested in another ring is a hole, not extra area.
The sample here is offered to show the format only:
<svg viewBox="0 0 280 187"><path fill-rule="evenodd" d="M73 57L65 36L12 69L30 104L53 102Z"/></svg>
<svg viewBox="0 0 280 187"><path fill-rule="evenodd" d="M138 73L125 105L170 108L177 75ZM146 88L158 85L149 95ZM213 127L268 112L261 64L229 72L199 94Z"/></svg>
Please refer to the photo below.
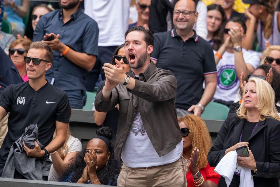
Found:
<svg viewBox="0 0 280 187"><path fill-rule="evenodd" d="M254 68L260 65L258 53L245 49L242 52L246 64L251 64ZM225 52L217 65L217 88L213 100L234 101L239 89L238 76L240 77L235 71L234 53Z"/></svg>

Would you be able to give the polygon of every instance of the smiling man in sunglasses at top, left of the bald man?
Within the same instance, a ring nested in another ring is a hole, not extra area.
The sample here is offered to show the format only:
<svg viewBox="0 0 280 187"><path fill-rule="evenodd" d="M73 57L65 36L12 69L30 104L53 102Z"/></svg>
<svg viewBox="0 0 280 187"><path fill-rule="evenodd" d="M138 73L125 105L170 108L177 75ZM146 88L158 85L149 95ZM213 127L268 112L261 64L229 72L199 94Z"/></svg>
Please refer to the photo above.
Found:
<svg viewBox="0 0 280 187"><path fill-rule="evenodd" d="M137 0L136 9L138 11L138 20L135 23L129 25L130 27L134 26L144 26L146 29L149 29L149 14L150 14L151 0Z"/></svg>

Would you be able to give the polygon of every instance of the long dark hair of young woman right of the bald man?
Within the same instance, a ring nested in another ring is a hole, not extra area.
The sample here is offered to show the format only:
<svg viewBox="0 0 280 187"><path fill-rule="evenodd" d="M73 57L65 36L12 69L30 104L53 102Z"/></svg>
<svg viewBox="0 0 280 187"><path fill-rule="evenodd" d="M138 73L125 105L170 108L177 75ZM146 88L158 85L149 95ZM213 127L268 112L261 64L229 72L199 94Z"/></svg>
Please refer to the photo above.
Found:
<svg viewBox="0 0 280 187"><path fill-rule="evenodd" d="M213 34L213 41L214 41L213 49L215 51L218 51L220 46L224 43L224 39L223 39L224 32L223 32L223 30L224 30L224 27L225 27L225 22L227 21L227 16L225 15L224 9L220 5L211 4L211 5L207 6L207 12L211 11L211 10L217 10L222 15L221 25L220 25L219 29L216 30L216 32L214 32L214 34Z"/></svg>

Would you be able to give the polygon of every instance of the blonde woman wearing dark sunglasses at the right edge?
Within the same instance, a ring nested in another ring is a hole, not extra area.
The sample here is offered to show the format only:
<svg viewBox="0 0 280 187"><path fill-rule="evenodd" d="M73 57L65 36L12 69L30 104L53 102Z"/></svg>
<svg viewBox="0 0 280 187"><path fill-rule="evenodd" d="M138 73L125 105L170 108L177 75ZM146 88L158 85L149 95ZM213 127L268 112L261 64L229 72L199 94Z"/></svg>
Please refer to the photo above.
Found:
<svg viewBox="0 0 280 187"><path fill-rule="evenodd" d="M280 46L269 46L262 53L261 64L270 64L280 73Z"/></svg>

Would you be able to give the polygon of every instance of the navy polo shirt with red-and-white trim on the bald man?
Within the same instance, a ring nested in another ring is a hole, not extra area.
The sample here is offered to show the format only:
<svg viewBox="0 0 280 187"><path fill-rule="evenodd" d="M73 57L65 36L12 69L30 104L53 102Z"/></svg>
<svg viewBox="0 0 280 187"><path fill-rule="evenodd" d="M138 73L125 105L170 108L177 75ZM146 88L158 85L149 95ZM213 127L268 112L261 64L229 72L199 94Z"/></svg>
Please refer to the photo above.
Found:
<svg viewBox="0 0 280 187"><path fill-rule="evenodd" d="M208 41L194 35L183 42L173 29L156 33L152 60L157 67L170 70L177 79L176 108L187 110L202 96L204 75L216 73L213 48Z"/></svg>

